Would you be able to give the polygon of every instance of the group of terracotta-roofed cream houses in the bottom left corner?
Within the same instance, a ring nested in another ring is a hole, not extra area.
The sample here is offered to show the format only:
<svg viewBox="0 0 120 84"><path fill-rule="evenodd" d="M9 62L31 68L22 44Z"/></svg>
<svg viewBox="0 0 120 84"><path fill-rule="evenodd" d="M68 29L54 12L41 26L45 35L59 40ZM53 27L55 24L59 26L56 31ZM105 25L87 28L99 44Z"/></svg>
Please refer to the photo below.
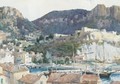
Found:
<svg viewBox="0 0 120 84"><path fill-rule="evenodd" d="M45 78L42 74L30 73L26 66L0 63L0 84L46 84Z"/></svg>

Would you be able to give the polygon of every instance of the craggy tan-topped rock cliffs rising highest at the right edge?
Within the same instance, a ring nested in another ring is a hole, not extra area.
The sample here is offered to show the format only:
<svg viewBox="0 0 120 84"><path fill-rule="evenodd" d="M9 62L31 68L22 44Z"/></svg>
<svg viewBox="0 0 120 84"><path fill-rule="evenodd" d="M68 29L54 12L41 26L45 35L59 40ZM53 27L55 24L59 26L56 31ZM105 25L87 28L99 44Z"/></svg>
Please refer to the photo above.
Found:
<svg viewBox="0 0 120 84"><path fill-rule="evenodd" d="M97 5L86 17L88 22L85 26L117 31L120 33L120 7L105 7L103 4Z"/></svg>

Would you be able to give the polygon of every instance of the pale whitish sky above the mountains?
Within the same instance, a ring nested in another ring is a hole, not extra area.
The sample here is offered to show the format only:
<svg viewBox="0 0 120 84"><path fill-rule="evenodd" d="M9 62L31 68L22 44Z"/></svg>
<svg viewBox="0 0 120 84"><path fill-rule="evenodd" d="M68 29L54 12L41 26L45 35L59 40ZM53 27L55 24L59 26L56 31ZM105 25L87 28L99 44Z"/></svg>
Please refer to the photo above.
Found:
<svg viewBox="0 0 120 84"><path fill-rule="evenodd" d="M10 6L18 9L25 18L35 20L54 10L86 9L97 4L120 6L120 0L0 0L0 7Z"/></svg>

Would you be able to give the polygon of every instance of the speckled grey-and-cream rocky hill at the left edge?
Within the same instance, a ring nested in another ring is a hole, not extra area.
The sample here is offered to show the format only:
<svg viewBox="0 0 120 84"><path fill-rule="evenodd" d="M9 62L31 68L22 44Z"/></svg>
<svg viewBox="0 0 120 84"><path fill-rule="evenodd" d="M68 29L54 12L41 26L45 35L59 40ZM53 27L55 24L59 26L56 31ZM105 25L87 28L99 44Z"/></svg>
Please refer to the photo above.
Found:
<svg viewBox="0 0 120 84"><path fill-rule="evenodd" d="M0 7L0 30L11 33L12 37L20 37L36 31L37 26L15 8Z"/></svg>

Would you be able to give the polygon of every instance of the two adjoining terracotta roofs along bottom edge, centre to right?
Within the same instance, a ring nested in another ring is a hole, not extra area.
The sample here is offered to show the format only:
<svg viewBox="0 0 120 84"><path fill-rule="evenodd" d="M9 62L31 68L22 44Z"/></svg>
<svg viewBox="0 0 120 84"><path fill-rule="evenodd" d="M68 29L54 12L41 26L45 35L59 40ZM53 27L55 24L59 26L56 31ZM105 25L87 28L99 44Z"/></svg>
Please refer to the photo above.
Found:
<svg viewBox="0 0 120 84"><path fill-rule="evenodd" d="M47 84L102 84L98 75L79 73L51 73Z"/></svg>

